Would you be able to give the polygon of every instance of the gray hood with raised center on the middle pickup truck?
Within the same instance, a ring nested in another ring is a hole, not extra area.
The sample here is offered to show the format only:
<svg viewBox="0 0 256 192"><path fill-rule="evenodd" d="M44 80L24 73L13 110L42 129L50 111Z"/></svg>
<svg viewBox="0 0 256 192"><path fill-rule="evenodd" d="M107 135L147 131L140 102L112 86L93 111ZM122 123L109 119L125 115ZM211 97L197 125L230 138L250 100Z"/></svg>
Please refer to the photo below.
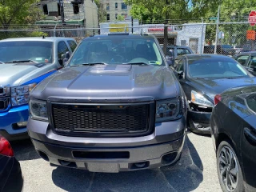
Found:
<svg viewBox="0 0 256 192"><path fill-rule="evenodd" d="M101 100L177 97L178 81L166 66L77 66L59 70L42 81L31 98Z"/></svg>

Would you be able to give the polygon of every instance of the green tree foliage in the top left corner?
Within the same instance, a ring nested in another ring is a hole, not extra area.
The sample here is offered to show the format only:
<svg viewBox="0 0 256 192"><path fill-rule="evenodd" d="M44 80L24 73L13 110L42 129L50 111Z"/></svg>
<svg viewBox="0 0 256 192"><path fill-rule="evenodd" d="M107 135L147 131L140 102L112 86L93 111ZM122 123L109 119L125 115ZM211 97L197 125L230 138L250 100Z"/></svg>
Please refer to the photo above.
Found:
<svg viewBox="0 0 256 192"><path fill-rule="evenodd" d="M34 22L34 12L38 13L35 3L38 0L0 0L0 25L8 30L12 24Z"/></svg>

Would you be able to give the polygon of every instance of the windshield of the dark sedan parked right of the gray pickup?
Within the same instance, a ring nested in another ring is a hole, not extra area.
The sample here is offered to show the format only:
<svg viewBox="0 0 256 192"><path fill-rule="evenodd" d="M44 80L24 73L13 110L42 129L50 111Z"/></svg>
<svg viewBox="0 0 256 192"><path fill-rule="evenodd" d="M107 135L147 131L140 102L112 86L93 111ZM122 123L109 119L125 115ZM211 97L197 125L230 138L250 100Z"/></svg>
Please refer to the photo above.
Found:
<svg viewBox="0 0 256 192"><path fill-rule="evenodd" d="M243 78L249 77L246 70L233 59L189 60L192 78Z"/></svg>

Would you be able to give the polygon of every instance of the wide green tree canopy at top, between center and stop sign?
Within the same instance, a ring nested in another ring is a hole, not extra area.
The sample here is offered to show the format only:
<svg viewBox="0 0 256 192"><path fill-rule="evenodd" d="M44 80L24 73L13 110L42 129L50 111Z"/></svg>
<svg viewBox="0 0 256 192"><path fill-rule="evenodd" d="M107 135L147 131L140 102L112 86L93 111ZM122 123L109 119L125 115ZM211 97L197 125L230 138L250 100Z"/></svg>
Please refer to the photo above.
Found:
<svg viewBox="0 0 256 192"><path fill-rule="evenodd" d="M170 19L204 17L209 10L217 9L220 0L125 0L132 6L134 18L142 22L170 22Z"/></svg>

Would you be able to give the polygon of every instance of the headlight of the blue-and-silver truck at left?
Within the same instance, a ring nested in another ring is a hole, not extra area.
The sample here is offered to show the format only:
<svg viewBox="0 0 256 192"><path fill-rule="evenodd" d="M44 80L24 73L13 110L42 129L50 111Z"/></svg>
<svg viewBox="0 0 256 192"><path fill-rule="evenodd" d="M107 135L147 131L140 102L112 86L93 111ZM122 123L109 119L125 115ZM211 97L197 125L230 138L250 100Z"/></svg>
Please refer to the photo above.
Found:
<svg viewBox="0 0 256 192"><path fill-rule="evenodd" d="M36 86L32 83L26 86L11 87L11 104L12 106L20 106L29 102L30 91Z"/></svg>

